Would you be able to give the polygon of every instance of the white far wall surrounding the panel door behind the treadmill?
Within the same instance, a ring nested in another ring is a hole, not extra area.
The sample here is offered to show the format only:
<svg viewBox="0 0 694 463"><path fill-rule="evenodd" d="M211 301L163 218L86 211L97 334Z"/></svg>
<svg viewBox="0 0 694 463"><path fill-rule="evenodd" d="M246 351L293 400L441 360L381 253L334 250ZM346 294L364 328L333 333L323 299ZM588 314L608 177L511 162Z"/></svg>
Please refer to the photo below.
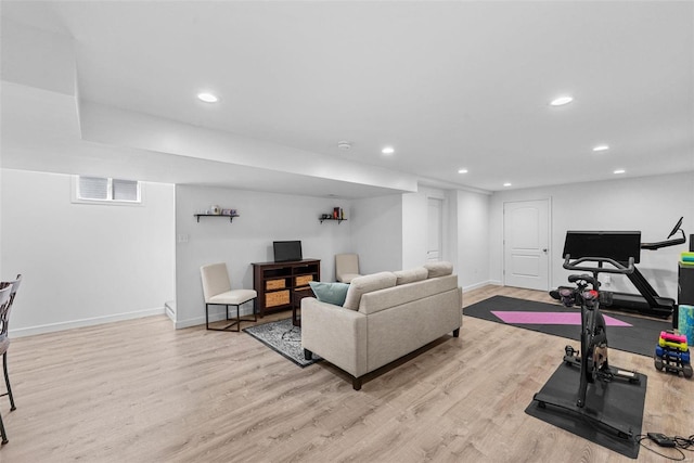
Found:
<svg viewBox="0 0 694 463"><path fill-rule="evenodd" d="M490 276L501 281L503 261L503 203L550 197L552 224L550 243L551 286L566 282L562 250L567 230L641 231L643 242L663 241L674 222L684 216L687 244L659 250L642 250L639 270L660 296L677 299L677 262L694 233L694 181L692 172L668 176L576 183L494 193L490 208ZM613 291L635 293L620 275L612 278Z"/></svg>

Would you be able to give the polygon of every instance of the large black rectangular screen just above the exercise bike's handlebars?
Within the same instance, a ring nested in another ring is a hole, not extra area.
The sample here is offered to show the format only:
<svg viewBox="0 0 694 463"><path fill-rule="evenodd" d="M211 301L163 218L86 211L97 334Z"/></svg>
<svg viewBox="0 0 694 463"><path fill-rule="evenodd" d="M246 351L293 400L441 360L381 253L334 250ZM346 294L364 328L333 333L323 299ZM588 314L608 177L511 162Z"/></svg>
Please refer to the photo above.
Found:
<svg viewBox="0 0 694 463"><path fill-rule="evenodd" d="M641 259L641 232L638 231L567 231L564 253L571 259L581 257L607 257L618 262L634 263Z"/></svg>

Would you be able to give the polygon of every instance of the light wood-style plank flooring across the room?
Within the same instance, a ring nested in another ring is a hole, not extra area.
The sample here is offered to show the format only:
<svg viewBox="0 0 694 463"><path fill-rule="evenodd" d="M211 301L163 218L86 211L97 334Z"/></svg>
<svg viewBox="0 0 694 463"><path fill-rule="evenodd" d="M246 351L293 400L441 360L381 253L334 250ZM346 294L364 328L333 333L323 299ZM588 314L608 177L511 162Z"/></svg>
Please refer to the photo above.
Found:
<svg viewBox="0 0 694 463"><path fill-rule="evenodd" d="M497 294L551 301L487 286L464 305ZM243 332L177 331L164 316L15 338L0 462L633 461L525 414L569 343L463 317L459 338L356 391L327 362L301 369ZM644 432L694 434L694 380L650 357L611 361L648 376Z"/></svg>

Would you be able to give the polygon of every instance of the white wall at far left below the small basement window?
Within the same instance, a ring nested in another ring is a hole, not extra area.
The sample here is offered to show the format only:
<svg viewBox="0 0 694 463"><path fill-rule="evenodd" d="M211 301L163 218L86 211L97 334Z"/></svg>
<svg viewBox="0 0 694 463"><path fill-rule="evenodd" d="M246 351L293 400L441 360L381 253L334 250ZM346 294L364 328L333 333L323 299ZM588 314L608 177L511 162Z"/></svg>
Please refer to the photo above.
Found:
<svg viewBox="0 0 694 463"><path fill-rule="evenodd" d="M174 298L174 185L142 206L72 203L70 176L2 170L2 280L24 276L13 335L164 313Z"/></svg>

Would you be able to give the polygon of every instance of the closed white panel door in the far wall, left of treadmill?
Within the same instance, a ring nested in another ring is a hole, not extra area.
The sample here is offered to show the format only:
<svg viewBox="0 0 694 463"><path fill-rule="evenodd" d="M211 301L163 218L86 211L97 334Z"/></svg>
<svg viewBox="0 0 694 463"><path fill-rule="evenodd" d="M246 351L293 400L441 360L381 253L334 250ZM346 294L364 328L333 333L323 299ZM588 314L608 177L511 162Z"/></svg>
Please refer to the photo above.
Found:
<svg viewBox="0 0 694 463"><path fill-rule="evenodd" d="M549 290L549 200L504 203L504 285Z"/></svg>

